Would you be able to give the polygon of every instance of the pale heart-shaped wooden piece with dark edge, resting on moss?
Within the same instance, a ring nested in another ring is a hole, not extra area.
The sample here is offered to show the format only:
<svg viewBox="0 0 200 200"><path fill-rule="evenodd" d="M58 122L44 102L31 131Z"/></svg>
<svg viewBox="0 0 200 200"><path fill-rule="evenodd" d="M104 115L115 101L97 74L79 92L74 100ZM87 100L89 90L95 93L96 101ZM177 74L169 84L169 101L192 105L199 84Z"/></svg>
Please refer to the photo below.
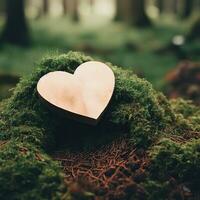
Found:
<svg viewBox="0 0 200 200"><path fill-rule="evenodd" d="M81 64L70 74L50 72L40 78L37 91L43 102L69 118L97 124L115 86L112 70L101 62Z"/></svg>

